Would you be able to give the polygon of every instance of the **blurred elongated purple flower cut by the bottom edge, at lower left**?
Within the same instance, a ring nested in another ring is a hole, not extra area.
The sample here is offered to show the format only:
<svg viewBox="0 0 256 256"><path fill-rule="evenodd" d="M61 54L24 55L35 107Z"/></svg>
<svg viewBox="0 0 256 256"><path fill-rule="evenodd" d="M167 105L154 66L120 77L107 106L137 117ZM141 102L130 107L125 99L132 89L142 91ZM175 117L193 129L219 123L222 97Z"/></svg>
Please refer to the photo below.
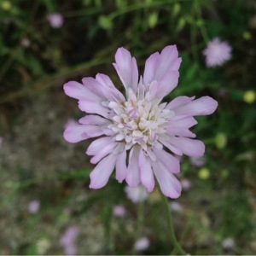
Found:
<svg viewBox="0 0 256 256"><path fill-rule="evenodd" d="M75 239L79 235L79 229L75 226L70 226L61 236L60 243L64 247L66 255L75 255L77 253L77 247L74 243Z"/></svg>

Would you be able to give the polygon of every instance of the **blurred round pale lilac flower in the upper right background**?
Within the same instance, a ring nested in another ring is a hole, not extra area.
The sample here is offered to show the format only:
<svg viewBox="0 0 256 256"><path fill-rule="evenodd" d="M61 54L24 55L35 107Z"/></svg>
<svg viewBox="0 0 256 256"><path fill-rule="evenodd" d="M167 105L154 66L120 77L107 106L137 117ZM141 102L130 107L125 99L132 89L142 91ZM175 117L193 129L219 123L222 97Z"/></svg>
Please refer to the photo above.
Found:
<svg viewBox="0 0 256 256"><path fill-rule="evenodd" d="M204 49L207 67L221 66L231 58L231 46L227 42L222 42L218 38L212 39Z"/></svg>

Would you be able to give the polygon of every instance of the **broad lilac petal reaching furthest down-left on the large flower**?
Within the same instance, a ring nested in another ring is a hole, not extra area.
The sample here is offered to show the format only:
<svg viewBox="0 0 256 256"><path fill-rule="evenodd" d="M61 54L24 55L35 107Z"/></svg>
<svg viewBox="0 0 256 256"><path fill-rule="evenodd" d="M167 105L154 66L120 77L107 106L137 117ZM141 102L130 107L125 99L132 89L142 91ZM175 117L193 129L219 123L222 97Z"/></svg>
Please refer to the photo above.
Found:
<svg viewBox="0 0 256 256"><path fill-rule="evenodd" d="M90 189L101 189L108 183L116 162L116 155L108 154L90 172Z"/></svg>

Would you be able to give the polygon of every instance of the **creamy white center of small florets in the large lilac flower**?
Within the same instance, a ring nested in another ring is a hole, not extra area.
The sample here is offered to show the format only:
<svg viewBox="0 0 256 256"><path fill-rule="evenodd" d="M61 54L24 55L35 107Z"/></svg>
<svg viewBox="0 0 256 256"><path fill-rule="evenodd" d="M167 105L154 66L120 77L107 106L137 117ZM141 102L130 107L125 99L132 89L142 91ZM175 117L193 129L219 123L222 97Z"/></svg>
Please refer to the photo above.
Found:
<svg viewBox="0 0 256 256"><path fill-rule="evenodd" d="M133 145L140 145L145 151L156 146L160 134L166 132L166 123L174 113L165 109L166 103L147 101L145 97L137 99L132 94L126 102L104 102L109 108L108 128L115 132L115 139L125 142L128 150Z"/></svg>

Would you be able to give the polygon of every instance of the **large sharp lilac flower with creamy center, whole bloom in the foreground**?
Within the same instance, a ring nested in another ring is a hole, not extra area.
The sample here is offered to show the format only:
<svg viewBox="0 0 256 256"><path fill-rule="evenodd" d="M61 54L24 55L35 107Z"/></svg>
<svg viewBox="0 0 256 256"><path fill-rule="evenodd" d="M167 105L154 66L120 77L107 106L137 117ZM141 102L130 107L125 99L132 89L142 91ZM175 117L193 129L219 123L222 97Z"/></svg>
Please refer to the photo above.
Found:
<svg viewBox="0 0 256 256"><path fill-rule="evenodd" d="M175 45L150 55L140 77L137 61L127 49L119 48L115 61L125 96L102 73L96 79L84 78L83 84L64 84L67 96L78 99L80 110L88 113L79 125L67 127L64 137L69 143L100 137L86 151L90 162L97 164L90 173L91 189L105 186L115 169L119 183L142 183L151 192L156 177L163 194L177 198L181 184L174 174L180 165L171 153L204 154L204 143L195 140L189 128L197 124L193 116L213 113L218 102L209 96L178 96L160 103L177 86L181 58Z"/></svg>

